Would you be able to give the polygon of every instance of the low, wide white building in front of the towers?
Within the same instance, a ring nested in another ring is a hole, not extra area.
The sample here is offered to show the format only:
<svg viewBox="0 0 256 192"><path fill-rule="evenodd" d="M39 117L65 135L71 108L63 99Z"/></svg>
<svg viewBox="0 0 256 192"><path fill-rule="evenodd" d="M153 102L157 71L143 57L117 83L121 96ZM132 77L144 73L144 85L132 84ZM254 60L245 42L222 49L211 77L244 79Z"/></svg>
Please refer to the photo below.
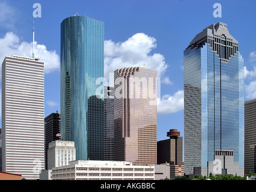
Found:
<svg viewBox="0 0 256 192"><path fill-rule="evenodd" d="M71 161L52 169L52 179L72 180L154 180L154 166L133 166L127 161Z"/></svg>

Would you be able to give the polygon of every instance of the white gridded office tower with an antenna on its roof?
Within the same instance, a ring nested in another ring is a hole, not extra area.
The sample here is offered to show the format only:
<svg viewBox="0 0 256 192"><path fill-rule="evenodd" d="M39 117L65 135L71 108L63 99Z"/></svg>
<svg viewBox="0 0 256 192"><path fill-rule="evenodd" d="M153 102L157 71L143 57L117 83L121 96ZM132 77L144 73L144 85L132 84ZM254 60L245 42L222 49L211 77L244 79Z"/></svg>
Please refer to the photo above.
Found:
<svg viewBox="0 0 256 192"><path fill-rule="evenodd" d="M2 62L2 170L39 179L44 169L44 62Z"/></svg>

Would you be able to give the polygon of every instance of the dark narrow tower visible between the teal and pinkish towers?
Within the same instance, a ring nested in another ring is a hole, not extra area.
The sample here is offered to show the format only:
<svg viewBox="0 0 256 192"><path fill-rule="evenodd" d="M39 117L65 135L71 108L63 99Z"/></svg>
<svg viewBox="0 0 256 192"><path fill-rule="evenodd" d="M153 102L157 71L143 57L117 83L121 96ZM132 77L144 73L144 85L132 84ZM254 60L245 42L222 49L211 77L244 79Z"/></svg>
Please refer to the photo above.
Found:
<svg viewBox="0 0 256 192"><path fill-rule="evenodd" d="M104 160L114 160L114 87L104 86Z"/></svg>

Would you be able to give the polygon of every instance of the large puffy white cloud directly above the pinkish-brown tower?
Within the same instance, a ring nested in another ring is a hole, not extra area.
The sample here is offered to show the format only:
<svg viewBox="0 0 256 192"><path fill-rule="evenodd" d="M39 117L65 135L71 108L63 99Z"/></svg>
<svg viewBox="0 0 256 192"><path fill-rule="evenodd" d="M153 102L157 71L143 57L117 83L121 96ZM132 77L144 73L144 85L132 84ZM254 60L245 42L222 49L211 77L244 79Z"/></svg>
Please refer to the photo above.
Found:
<svg viewBox="0 0 256 192"><path fill-rule="evenodd" d="M105 77L119 68L145 67L157 70L157 76L165 73L168 64L160 53L151 53L157 46L156 39L144 33L138 33L124 42L115 43L105 40L104 64Z"/></svg>

